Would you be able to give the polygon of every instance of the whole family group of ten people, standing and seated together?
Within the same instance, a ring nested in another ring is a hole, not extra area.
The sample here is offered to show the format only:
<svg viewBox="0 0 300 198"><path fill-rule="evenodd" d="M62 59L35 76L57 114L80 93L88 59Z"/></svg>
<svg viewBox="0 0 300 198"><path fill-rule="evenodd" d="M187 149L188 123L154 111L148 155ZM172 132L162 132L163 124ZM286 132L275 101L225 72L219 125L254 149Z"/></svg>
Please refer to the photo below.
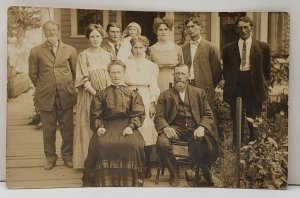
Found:
<svg viewBox="0 0 300 198"><path fill-rule="evenodd" d="M144 178L151 177L153 145L170 172L170 185L178 186L176 140L189 142L193 163L213 185L215 87L223 74L224 100L233 120L239 96L246 116L258 118L270 75L269 48L252 38L253 22L242 17L236 22L240 39L223 49L222 70L217 47L201 37L200 19L190 17L185 26L191 40L178 46L170 40L173 21L156 18L157 43L149 47L135 22L123 35L118 24L109 23L107 38L101 25L90 24L85 34L90 47L77 57L72 46L58 39L57 23L43 25L47 41L32 48L29 75L43 123L45 170L56 164L58 123L63 161L84 170L83 186L143 186ZM250 139L255 137L252 130Z"/></svg>

